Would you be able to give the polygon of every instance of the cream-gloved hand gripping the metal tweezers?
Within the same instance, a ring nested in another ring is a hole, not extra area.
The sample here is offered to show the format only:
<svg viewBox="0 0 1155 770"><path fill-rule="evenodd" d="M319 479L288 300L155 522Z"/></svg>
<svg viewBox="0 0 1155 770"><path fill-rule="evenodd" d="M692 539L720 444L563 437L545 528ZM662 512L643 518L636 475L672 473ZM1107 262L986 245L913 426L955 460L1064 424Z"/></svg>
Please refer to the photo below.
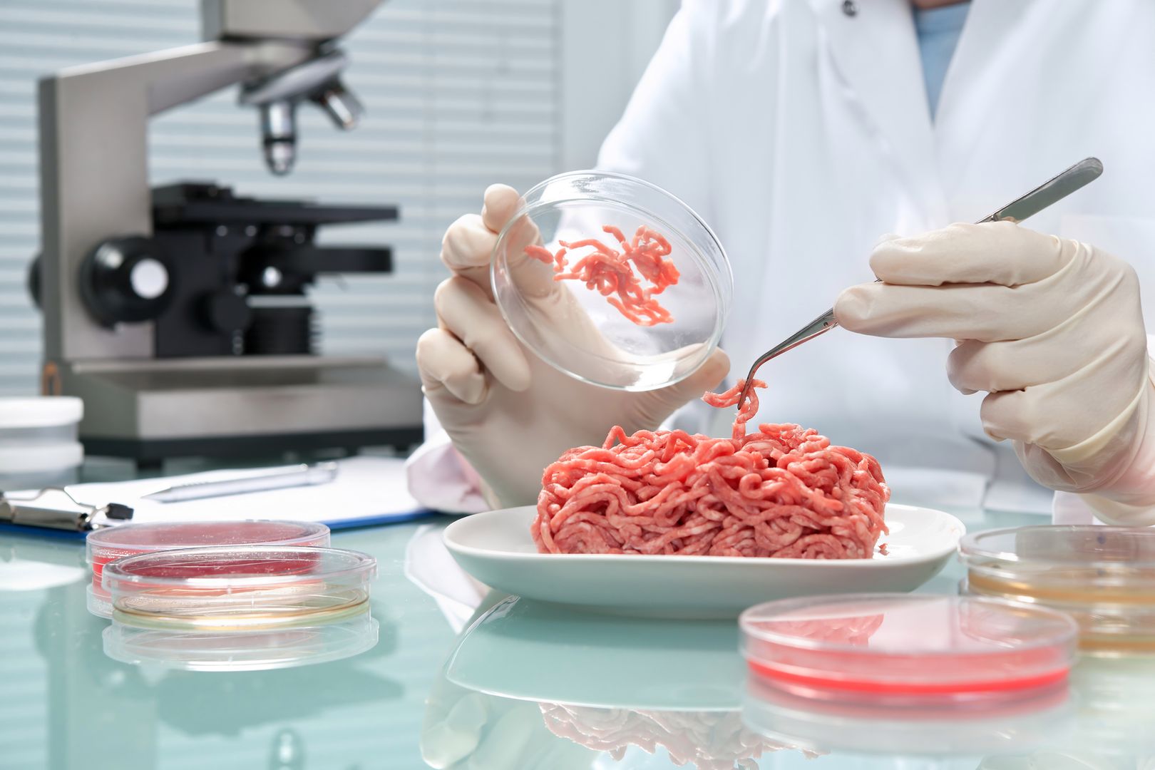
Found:
<svg viewBox="0 0 1155 770"><path fill-rule="evenodd" d="M1139 282L1124 261L1008 222L889 237L884 283L834 306L844 328L948 337L951 383L985 390L986 433L1104 521L1155 524L1155 409Z"/></svg>

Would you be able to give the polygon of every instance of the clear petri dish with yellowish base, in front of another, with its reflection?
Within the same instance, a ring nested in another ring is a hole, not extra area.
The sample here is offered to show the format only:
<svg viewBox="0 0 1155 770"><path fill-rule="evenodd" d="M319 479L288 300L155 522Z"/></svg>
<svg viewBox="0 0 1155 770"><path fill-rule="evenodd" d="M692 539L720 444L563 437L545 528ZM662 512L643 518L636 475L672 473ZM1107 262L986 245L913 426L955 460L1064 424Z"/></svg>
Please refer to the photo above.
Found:
<svg viewBox="0 0 1155 770"><path fill-rule="evenodd" d="M104 565L105 653L192 671L258 671L358 655L378 640L377 560L357 551L228 545Z"/></svg>

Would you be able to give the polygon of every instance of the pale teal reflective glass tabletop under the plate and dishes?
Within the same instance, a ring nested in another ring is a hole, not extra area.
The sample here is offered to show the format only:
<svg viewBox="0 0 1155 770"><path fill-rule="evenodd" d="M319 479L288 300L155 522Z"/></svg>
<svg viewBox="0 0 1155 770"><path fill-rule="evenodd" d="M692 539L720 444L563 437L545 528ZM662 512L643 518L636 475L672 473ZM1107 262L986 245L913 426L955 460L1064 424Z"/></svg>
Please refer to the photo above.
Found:
<svg viewBox="0 0 1155 770"><path fill-rule="evenodd" d="M84 469L88 480L132 473ZM951 513L969 531L1045 523ZM758 733L743 725L765 715L751 705L732 621L486 595L441 547L449 521L334 532L335 547L378 560L378 641L266 671L110 658L109 621L85 611L82 543L0 534L0 770L1116 770L1155 756L1155 664L1142 658L1082 661L1061 698L956 725L909 710L874 724L827 704L780 711L776 732ZM961 577L952 562L919 590L955 593Z"/></svg>

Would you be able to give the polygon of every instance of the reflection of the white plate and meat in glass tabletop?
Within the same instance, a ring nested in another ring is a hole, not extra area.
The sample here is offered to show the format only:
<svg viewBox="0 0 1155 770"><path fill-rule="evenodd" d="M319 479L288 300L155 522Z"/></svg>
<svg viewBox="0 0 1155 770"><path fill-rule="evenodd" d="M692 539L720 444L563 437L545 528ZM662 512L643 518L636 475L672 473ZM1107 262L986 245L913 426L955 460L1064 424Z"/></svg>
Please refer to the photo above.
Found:
<svg viewBox="0 0 1155 770"><path fill-rule="evenodd" d="M446 661L422 754L434 768L758 768L759 756L788 747L742 724L736 650L726 621L602 616L507 598Z"/></svg>

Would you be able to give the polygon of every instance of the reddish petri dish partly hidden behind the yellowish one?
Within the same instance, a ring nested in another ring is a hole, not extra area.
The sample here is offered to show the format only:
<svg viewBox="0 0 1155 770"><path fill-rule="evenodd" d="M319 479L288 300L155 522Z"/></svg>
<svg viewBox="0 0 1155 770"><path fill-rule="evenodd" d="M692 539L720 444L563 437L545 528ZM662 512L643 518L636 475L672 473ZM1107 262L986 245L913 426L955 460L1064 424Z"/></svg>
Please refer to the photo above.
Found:
<svg viewBox="0 0 1155 770"><path fill-rule="evenodd" d="M100 585L104 566L117 559L141 553L199 548L219 545L329 545L329 528L313 522L249 519L241 522L178 522L118 524L90 532L84 539L85 555L92 569L87 589L88 611L100 618L112 616L112 604Z"/></svg>

